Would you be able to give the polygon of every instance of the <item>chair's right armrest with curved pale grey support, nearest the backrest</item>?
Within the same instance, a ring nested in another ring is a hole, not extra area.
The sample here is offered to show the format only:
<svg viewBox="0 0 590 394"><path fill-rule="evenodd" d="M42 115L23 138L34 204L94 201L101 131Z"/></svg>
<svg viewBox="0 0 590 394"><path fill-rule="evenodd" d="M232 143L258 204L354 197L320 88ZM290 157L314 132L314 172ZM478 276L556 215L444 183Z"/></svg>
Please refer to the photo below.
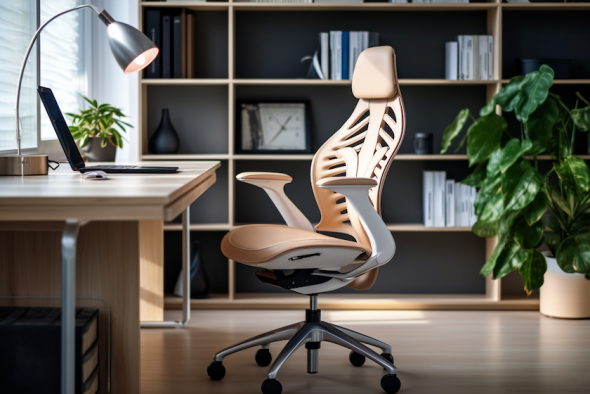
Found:
<svg viewBox="0 0 590 394"><path fill-rule="evenodd" d="M346 203L352 205L369 237L373 249L371 258L377 259L377 266L391 260L395 254L395 241L369 200L369 189L377 186L377 181L361 177L336 177L321 179L316 185L346 197Z"/></svg>

